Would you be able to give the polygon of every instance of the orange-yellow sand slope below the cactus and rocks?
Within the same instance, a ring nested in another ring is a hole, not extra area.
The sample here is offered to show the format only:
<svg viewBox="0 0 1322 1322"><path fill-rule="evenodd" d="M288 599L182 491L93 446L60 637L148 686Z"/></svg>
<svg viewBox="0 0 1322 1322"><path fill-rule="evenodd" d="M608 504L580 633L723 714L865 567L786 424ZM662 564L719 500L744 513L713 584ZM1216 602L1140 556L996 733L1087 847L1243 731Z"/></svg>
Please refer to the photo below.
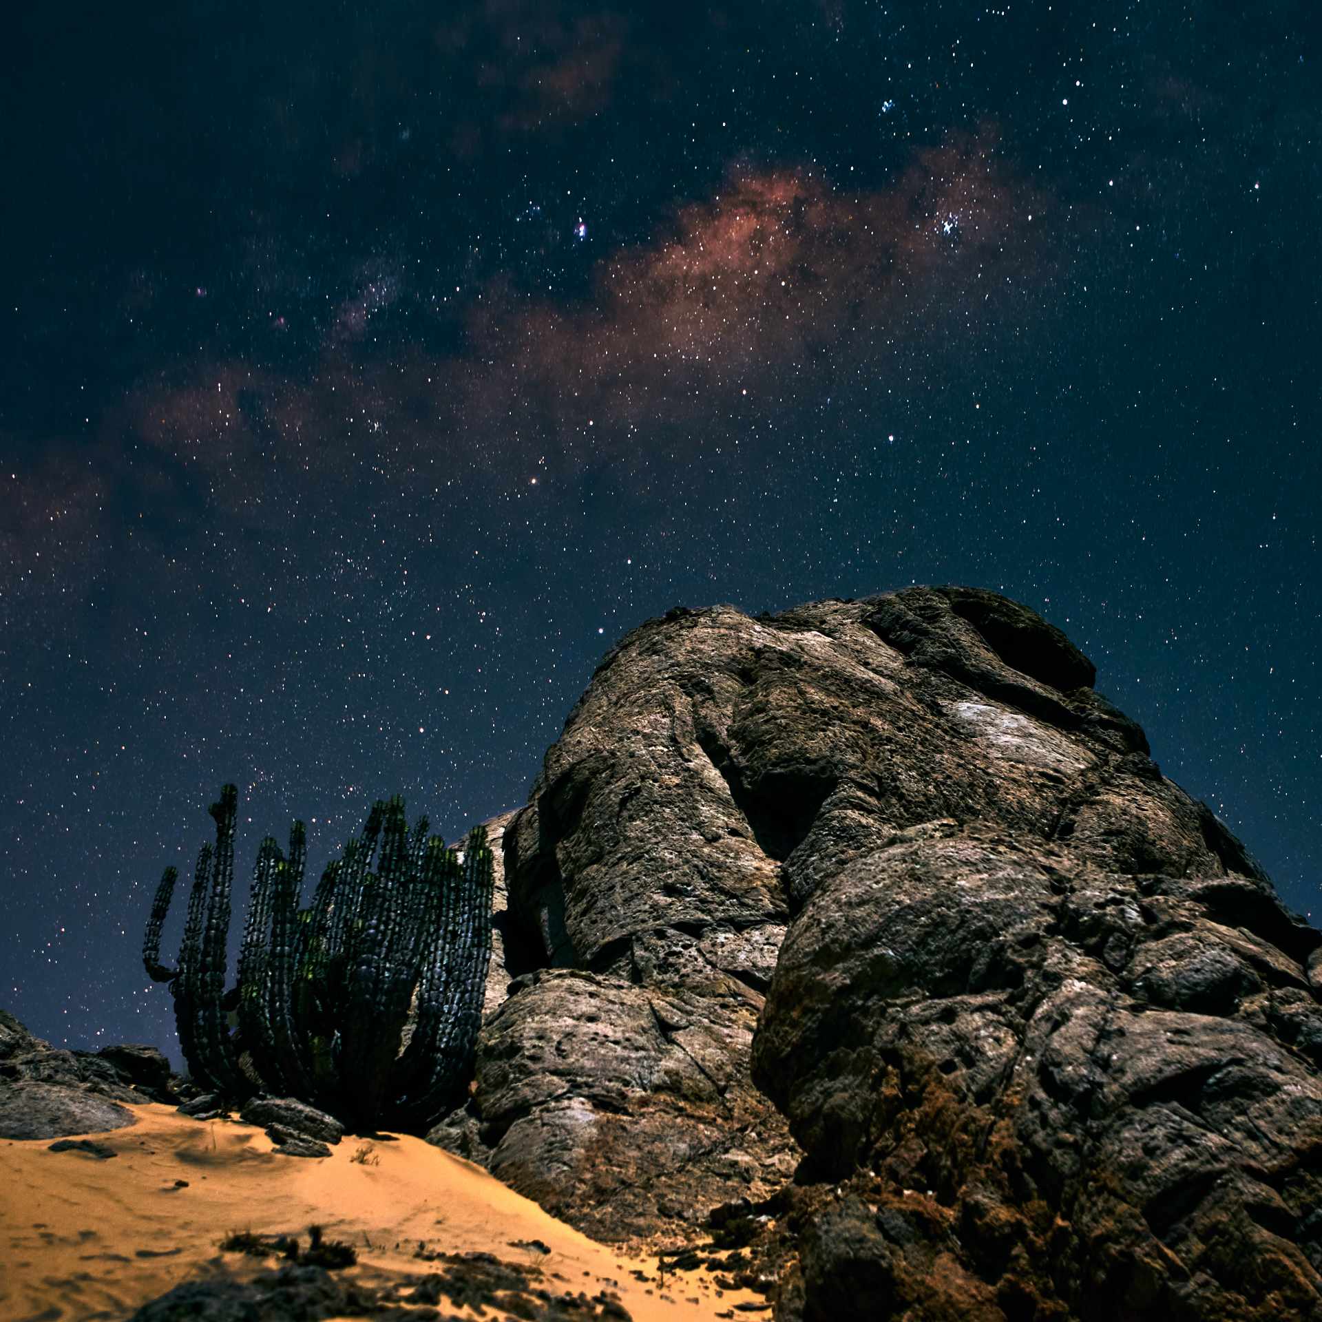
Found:
<svg viewBox="0 0 1322 1322"><path fill-rule="evenodd" d="M279 1265L221 1255L227 1232L292 1233L305 1243L311 1224L353 1244L358 1265L349 1273L373 1281L428 1272L414 1257L422 1241L428 1251L481 1251L535 1264L555 1293L615 1292L636 1322L768 1315L731 1313L763 1301L719 1292L705 1270L672 1272L662 1282L654 1260L587 1239L479 1166L419 1138L346 1137L328 1158L283 1157L251 1125L190 1120L169 1107L132 1109L131 1128L89 1136L119 1154L110 1159L53 1153L50 1140L0 1140L4 1322L122 1319L180 1281L217 1270L246 1277ZM354 1161L364 1147L370 1147L366 1161ZM531 1240L550 1253L513 1247ZM443 1301L443 1314L460 1311Z"/></svg>

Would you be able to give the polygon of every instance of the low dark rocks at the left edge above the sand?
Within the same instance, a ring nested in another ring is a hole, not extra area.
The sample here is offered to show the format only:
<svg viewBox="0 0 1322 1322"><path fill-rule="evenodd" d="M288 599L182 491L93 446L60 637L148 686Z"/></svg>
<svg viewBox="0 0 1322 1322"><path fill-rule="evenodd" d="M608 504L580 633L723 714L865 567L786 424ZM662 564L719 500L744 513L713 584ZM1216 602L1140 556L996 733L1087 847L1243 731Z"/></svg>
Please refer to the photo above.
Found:
<svg viewBox="0 0 1322 1322"><path fill-rule="evenodd" d="M116 1103L172 1103L180 1081L155 1047L63 1051L0 1010L0 1138L120 1129L134 1114Z"/></svg>

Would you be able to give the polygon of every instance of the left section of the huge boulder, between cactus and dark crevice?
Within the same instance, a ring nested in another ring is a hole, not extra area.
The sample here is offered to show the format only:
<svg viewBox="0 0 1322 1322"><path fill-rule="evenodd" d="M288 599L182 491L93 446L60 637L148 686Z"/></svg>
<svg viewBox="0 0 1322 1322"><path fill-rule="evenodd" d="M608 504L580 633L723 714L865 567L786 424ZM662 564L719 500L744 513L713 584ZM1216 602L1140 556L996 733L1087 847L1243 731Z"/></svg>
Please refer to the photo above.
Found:
<svg viewBox="0 0 1322 1322"><path fill-rule="evenodd" d="M779 863L705 751L750 625L681 612L599 669L505 829L509 995L430 1136L607 1239L691 1233L801 1155L748 1073Z"/></svg>

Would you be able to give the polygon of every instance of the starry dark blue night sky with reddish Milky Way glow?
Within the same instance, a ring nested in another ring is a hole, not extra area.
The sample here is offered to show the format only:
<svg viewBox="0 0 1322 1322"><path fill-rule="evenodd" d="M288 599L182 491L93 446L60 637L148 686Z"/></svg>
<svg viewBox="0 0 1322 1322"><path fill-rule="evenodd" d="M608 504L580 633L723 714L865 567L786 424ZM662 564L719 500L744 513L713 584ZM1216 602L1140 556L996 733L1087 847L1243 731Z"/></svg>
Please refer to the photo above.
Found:
<svg viewBox="0 0 1322 1322"><path fill-rule="evenodd" d="M1314 5L22 8L0 1005L34 1032L178 1058L141 927L223 781L241 874L293 816L319 874L391 792L449 838L644 619L910 583L1064 628L1322 917Z"/></svg>

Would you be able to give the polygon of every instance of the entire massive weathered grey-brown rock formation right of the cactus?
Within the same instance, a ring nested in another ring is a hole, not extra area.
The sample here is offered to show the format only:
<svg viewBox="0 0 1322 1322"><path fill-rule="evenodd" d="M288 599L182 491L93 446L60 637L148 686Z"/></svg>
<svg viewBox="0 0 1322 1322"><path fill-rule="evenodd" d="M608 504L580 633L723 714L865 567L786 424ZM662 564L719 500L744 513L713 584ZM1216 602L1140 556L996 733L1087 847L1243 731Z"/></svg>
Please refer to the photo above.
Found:
<svg viewBox="0 0 1322 1322"><path fill-rule="evenodd" d="M633 631L436 1141L615 1237L797 1165L783 1319L1319 1315L1322 933L1092 682L969 588Z"/></svg>

